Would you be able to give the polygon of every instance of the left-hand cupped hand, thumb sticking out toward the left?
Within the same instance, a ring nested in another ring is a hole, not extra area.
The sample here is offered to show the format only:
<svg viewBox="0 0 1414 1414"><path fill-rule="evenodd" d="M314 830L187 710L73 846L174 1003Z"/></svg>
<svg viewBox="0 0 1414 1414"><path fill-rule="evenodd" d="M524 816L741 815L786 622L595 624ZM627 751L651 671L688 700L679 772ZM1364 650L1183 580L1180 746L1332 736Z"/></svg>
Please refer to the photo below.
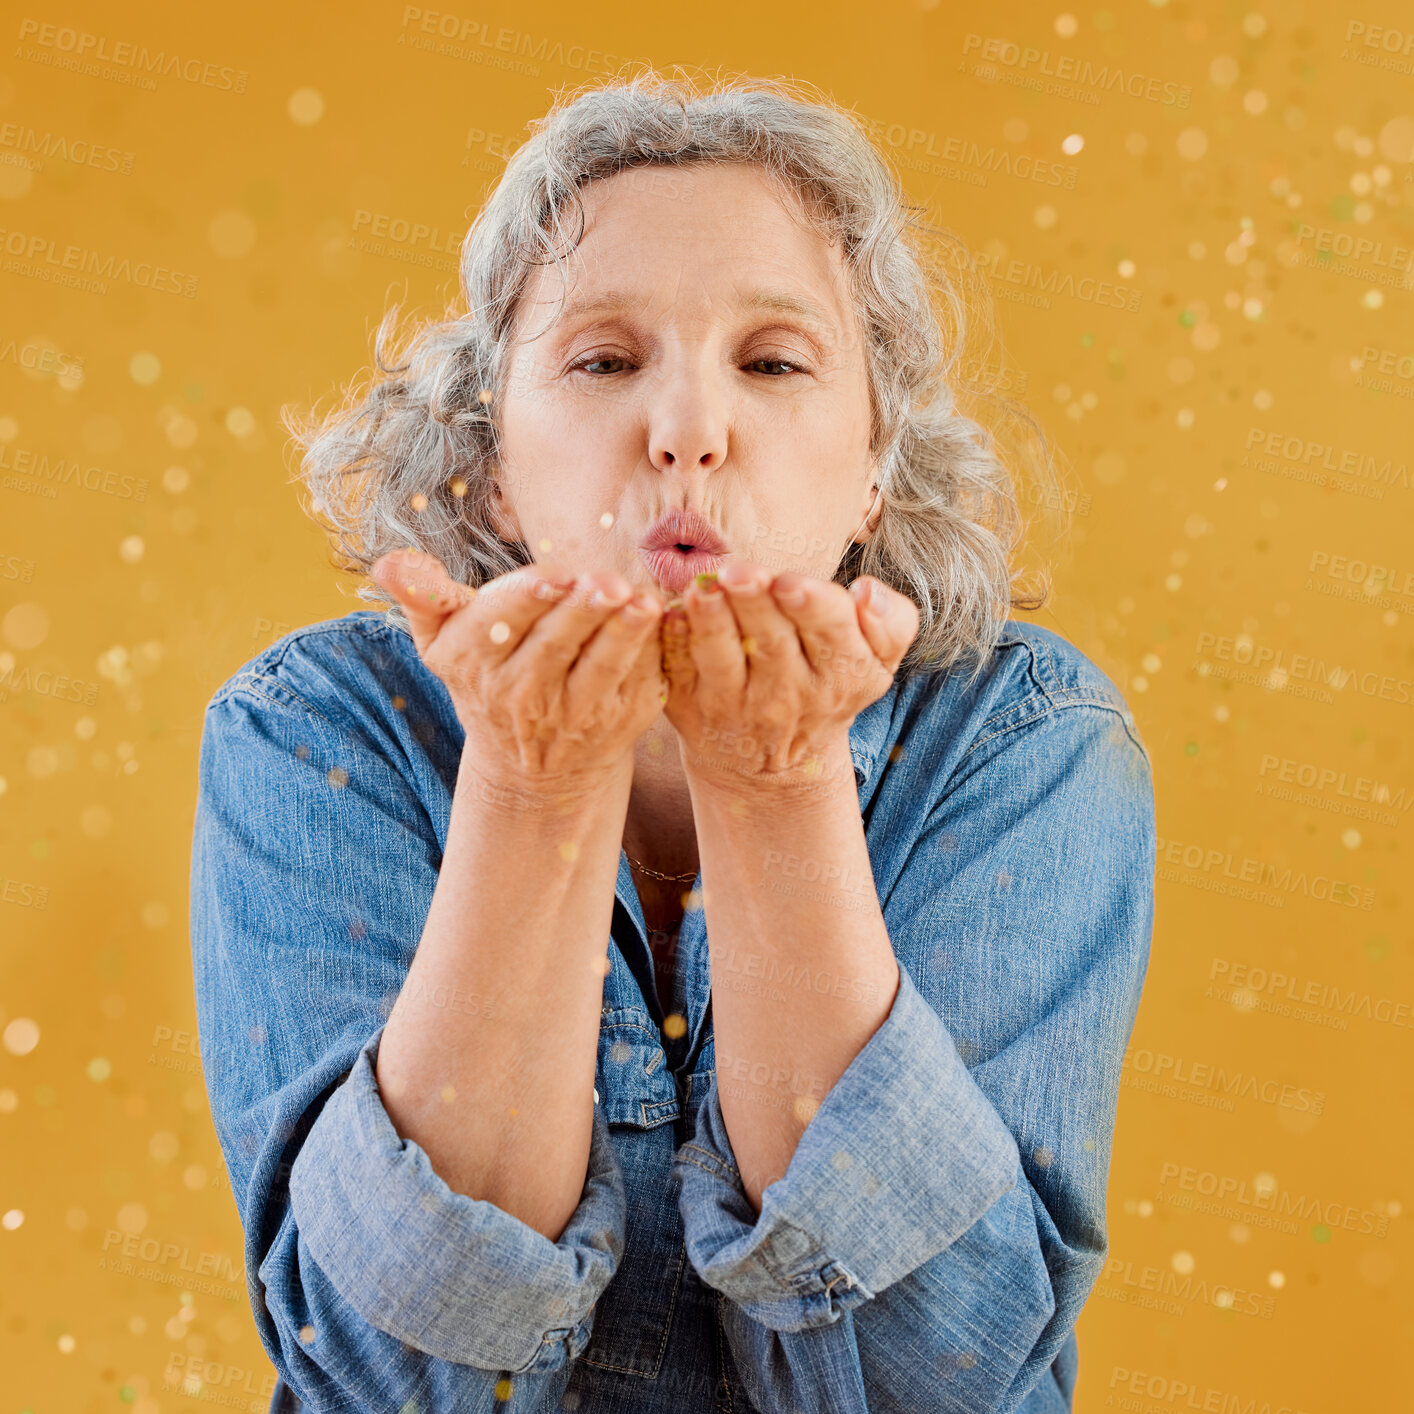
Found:
<svg viewBox="0 0 1414 1414"><path fill-rule="evenodd" d="M382 556L372 575L445 684L462 764L482 779L532 793L592 786L625 769L662 711L665 605L652 588L532 564L472 590L419 550Z"/></svg>

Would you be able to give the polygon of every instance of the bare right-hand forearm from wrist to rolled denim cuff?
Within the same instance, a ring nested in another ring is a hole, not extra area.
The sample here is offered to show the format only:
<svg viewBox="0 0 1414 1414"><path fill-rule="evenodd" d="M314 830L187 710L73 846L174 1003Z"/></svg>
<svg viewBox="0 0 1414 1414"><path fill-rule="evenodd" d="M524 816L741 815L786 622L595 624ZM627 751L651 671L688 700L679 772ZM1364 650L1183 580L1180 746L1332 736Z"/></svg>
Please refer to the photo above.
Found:
<svg viewBox="0 0 1414 1414"><path fill-rule="evenodd" d="M708 785L690 776L717 1089L756 1212L898 990L854 773L841 749L826 771L837 782L829 790Z"/></svg>

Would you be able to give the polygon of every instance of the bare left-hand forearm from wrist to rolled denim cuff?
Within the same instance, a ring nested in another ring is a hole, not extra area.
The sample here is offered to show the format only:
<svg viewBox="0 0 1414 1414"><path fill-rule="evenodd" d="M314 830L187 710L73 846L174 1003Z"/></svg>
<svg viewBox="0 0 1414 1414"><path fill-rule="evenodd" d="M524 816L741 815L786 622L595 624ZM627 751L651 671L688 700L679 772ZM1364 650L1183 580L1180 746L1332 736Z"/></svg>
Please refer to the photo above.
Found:
<svg viewBox="0 0 1414 1414"><path fill-rule="evenodd" d="M455 1192L559 1240L590 1154L631 764L575 797L510 797L465 758L378 1083Z"/></svg>

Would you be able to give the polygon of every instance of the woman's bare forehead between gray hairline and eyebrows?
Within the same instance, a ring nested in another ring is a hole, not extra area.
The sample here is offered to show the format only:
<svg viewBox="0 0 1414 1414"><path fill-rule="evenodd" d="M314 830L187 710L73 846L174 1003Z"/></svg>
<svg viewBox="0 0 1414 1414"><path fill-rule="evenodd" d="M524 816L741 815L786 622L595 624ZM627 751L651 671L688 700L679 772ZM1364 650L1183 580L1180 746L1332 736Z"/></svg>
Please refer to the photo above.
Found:
<svg viewBox="0 0 1414 1414"><path fill-rule="evenodd" d="M566 260L563 311L553 264L536 266L526 284L536 327L625 286L643 312L775 307L814 311L840 332L855 324L840 247L759 167L635 167L588 182L581 199L584 233Z"/></svg>

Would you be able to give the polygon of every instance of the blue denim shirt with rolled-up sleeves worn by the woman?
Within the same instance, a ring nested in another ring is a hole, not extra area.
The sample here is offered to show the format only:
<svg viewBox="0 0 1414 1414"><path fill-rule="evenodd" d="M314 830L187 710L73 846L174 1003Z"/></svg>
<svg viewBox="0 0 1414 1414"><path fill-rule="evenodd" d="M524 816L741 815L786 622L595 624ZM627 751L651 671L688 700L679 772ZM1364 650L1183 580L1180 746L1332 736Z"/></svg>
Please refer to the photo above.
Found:
<svg viewBox="0 0 1414 1414"><path fill-rule="evenodd" d="M1151 765L1114 684L1008 621L971 684L899 679L855 717L899 986L759 1216L718 1104L706 915L683 919L667 1039L621 853L559 1241L454 1192L376 1082L462 741L373 609L287 633L206 706L197 1011L271 1408L1069 1410L1154 913Z"/></svg>

